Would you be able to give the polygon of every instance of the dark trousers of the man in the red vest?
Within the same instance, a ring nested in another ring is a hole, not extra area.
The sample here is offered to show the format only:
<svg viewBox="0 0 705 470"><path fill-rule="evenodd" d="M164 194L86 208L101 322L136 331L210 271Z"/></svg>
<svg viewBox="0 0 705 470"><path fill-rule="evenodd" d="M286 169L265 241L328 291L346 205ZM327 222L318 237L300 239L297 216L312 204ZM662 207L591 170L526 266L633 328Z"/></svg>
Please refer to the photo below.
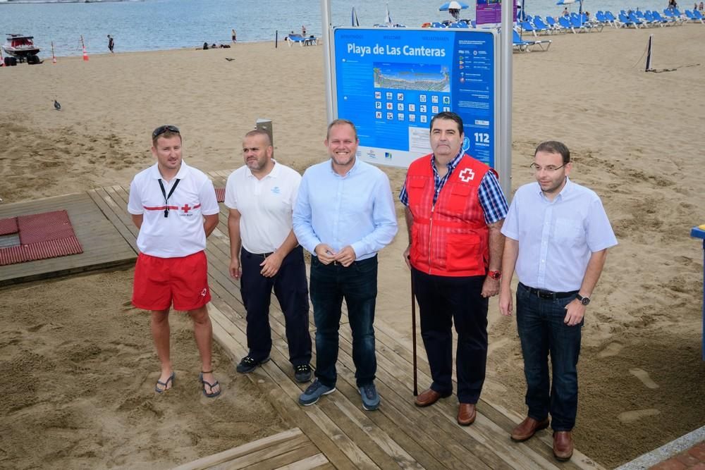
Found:
<svg viewBox="0 0 705 470"><path fill-rule="evenodd" d="M455 370L458 401L477 403L487 362L487 306L482 297L484 276L432 276L411 270L421 311L421 337L431 367L431 389L453 392L453 323L458 333Z"/></svg>

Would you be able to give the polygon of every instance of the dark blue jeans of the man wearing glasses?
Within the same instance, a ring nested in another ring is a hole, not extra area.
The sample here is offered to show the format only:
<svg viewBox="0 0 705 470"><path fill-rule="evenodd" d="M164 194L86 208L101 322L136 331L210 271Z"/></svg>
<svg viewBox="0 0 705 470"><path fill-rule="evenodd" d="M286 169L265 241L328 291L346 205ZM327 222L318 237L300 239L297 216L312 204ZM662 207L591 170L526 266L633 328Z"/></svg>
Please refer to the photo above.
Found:
<svg viewBox="0 0 705 470"><path fill-rule="evenodd" d="M517 287L517 330L524 354L529 416L541 421L551 413L553 431L570 431L577 414L577 359L580 355L580 325L563 323L565 306L575 296L541 299ZM548 377L551 354L553 383ZM549 392L550 383L550 392Z"/></svg>

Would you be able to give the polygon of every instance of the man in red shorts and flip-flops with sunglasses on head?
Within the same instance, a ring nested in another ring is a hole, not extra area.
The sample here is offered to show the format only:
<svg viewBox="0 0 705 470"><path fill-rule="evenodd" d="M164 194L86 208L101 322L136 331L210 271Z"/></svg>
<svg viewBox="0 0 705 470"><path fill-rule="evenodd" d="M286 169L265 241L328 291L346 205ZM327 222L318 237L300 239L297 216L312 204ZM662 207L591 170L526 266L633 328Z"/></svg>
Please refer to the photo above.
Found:
<svg viewBox="0 0 705 470"><path fill-rule="evenodd" d="M218 224L219 207L213 183L181 159L181 134L173 125L152 132L157 163L137 173L130 185L128 211L140 229L135 265L133 304L151 311L152 336L161 361L154 390L174 385L169 355L169 309L188 311L201 357L200 382L206 397L220 395L213 376L213 329L206 304L208 288L206 237Z"/></svg>

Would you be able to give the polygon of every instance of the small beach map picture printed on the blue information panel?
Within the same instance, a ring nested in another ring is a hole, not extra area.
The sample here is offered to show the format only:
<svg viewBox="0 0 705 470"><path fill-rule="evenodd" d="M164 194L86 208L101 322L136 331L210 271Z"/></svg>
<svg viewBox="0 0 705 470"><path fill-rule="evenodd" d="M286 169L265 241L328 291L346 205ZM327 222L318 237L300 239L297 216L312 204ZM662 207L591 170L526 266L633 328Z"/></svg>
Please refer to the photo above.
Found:
<svg viewBox="0 0 705 470"><path fill-rule="evenodd" d="M448 67L430 63L375 62L374 87L450 92Z"/></svg>

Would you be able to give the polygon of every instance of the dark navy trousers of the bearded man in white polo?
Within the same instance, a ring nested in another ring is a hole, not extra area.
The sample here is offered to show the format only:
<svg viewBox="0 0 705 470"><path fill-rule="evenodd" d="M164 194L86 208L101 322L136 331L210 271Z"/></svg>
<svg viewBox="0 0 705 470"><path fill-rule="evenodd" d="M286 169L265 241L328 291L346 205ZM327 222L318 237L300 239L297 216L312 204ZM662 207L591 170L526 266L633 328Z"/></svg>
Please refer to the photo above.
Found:
<svg viewBox="0 0 705 470"><path fill-rule="evenodd" d="M269 357L271 331L269 327L269 303L271 291L279 301L286 323L286 340L289 345L289 361L294 366L311 361L311 335L309 334L309 304L306 286L306 265L302 247L296 247L281 262L278 273L266 278L259 273L262 254L240 252L243 277L240 279L240 294L247 311L247 348L256 361Z"/></svg>

